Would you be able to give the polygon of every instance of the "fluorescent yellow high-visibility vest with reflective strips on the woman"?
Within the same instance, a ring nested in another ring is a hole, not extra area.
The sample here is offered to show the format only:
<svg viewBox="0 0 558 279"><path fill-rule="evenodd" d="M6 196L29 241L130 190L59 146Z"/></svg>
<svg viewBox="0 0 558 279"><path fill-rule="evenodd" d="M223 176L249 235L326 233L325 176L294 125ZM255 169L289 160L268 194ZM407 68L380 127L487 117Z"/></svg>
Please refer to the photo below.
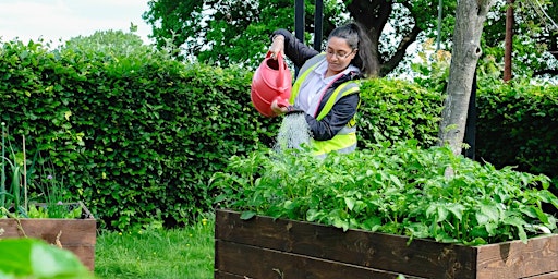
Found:
<svg viewBox="0 0 558 279"><path fill-rule="evenodd" d="M299 77L292 86L290 104L294 104L296 96L300 93L301 84L306 80L308 74L318 65L318 62L323 60L325 53L318 54L310 59L300 70ZM356 81L348 81L340 84L333 89L333 93L326 101L324 108L319 111L316 120L322 120L329 113L333 105L344 96L359 93L359 83ZM314 155L318 157L325 157L330 151L338 153L351 153L356 149L356 119L353 117L347 125L341 129L331 140L328 141L315 141L312 140L314 148Z"/></svg>

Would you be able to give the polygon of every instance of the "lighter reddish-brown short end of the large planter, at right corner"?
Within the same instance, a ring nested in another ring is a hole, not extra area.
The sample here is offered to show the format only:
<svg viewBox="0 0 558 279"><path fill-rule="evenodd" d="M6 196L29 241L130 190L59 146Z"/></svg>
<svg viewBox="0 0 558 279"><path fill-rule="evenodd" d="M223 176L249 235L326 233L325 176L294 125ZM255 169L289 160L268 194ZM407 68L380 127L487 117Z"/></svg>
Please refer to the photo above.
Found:
<svg viewBox="0 0 558 279"><path fill-rule="evenodd" d="M558 238L546 235L478 246L477 278L531 278L558 272ZM554 278L558 278L554 277Z"/></svg>

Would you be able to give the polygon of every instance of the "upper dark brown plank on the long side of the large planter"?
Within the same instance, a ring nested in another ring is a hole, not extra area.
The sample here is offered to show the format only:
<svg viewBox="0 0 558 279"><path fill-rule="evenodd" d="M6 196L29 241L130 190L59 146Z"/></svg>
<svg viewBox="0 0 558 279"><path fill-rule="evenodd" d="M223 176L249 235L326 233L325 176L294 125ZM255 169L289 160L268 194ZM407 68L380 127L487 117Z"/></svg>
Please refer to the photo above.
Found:
<svg viewBox="0 0 558 279"><path fill-rule="evenodd" d="M217 209L217 240L424 278L475 278L476 251L462 245ZM217 252L216 252L217 254Z"/></svg>

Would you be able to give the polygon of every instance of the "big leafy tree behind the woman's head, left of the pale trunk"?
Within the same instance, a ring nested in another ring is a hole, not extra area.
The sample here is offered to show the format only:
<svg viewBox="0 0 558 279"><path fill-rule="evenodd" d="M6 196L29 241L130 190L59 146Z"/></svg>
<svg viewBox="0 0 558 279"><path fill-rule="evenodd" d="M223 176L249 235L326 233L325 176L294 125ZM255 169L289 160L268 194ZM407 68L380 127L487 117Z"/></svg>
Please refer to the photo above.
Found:
<svg viewBox="0 0 558 279"><path fill-rule="evenodd" d="M183 57L227 66L256 68L276 28L293 29L293 0L150 0L143 19L153 26L159 48L183 46ZM371 35L380 76L393 71L424 31L434 31L437 2L432 0L324 1L324 34L347 19L363 23ZM453 4L444 7L452 14ZM314 1L305 2L305 38L314 33ZM447 21L451 22L451 17ZM389 27L388 27L389 26ZM445 34L449 34L445 29Z"/></svg>

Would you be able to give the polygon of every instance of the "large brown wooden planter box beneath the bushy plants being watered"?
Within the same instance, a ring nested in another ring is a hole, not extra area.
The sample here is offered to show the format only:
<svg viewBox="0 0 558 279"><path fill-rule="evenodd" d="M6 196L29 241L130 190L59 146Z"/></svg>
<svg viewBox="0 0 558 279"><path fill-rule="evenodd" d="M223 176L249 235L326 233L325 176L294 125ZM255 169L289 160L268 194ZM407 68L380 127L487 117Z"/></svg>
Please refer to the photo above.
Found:
<svg viewBox="0 0 558 279"><path fill-rule="evenodd" d="M558 278L558 234L482 246L217 209L215 278Z"/></svg>

